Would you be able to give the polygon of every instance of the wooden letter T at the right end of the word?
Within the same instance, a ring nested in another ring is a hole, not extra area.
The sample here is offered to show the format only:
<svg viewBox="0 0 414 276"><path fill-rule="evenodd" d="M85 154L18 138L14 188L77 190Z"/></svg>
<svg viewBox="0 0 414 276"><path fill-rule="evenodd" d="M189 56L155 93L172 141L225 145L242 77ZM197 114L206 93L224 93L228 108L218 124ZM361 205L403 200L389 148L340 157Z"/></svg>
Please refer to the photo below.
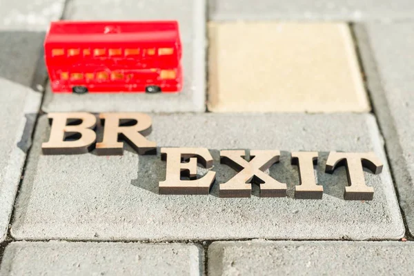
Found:
<svg viewBox="0 0 414 276"><path fill-rule="evenodd" d="M362 166L375 175L382 172L382 163L374 152L329 152L325 172L333 173L335 168L346 166L349 186L345 187L346 200L372 200L374 188L365 185Z"/></svg>

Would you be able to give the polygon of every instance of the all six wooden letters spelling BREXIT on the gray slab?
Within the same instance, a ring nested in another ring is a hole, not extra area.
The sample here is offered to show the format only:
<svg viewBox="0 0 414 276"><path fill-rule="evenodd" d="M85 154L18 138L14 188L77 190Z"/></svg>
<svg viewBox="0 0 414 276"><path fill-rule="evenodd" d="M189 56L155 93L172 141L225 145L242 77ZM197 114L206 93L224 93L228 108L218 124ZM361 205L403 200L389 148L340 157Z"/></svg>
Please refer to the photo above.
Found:
<svg viewBox="0 0 414 276"><path fill-rule="evenodd" d="M146 139L151 132L151 118L144 113L100 113L103 139L97 142L97 116L87 112L49 113L50 137L42 144L43 155L72 155L87 153L95 147L97 155L122 155L126 141L139 155L157 154L155 141ZM201 195L210 193L216 173L209 170L197 179L197 164L213 167L213 157L207 148L161 148L166 161L166 179L159 182L161 195ZM286 197L286 184L273 179L264 171L279 162L279 150L221 150L220 163L238 173L226 183L219 184L220 197L250 197L252 184L258 184L260 197ZM295 198L322 199L324 188L315 181L313 166L318 152L291 152L290 161L299 168L299 185ZM329 152L325 172L346 166L348 186L344 199L372 200L373 187L366 186L363 168L374 174L383 165L374 152ZM184 179L187 177L188 179Z"/></svg>

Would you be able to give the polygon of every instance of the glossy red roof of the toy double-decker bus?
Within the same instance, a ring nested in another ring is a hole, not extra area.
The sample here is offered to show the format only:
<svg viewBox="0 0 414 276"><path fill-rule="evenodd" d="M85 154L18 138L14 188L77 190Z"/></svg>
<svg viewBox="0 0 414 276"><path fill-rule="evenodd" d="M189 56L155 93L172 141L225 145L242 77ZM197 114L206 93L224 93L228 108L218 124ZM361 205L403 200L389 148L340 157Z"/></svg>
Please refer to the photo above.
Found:
<svg viewBox="0 0 414 276"><path fill-rule="evenodd" d="M55 21L46 43L177 43L177 21Z"/></svg>

